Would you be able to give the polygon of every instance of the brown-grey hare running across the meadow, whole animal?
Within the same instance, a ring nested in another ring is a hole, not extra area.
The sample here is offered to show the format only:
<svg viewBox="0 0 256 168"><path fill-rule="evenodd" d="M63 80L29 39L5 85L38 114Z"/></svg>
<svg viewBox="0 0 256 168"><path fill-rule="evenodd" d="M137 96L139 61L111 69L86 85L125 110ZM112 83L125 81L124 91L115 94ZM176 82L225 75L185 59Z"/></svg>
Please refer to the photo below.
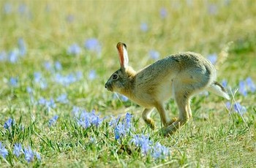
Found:
<svg viewBox="0 0 256 168"><path fill-rule="evenodd" d="M159 112L164 134L173 134L192 117L190 99L196 93L207 90L230 99L223 86L217 83L216 69L198 53L182 52L168 56L135 72L128 66L127 46L116 45L121 68L110 76L105 88L127 96L145 107L142 118L155 129L150 117L154 107ZM165 101L173 97L178 105L178 118L170 120L165 111Z"/></svg>

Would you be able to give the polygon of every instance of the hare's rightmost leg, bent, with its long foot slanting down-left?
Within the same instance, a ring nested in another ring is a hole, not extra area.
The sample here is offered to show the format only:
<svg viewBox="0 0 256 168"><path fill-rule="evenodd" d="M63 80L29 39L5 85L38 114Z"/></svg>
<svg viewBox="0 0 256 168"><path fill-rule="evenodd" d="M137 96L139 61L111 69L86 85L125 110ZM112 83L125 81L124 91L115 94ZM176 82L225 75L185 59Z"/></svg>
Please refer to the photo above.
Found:
<svg viewBox="0 0 256 168"><path fill-rule="evenodd" d="M189 94L187 92L178 92L175 93L176 103L178 105L179 116L178 119L174 119L170 121L169 124L165 128L165 135L173 134L176 132L181 126L183 126L189 118L192 117L192 112L189 105Z"/></svg>

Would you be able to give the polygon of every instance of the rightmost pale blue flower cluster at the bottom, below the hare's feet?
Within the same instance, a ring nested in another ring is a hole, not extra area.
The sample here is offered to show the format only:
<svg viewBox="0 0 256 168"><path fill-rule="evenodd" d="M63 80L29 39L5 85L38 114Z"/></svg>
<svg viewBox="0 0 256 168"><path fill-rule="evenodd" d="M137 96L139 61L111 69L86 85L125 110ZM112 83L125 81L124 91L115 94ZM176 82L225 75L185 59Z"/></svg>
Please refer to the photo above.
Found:
<svg viewBox="0 0 256 168"><path fill-rule="evenodd" d="M154 159L165 159L167 156L170 156L170 150L157 142L157 144L152 148L151 156Z"/></svg>

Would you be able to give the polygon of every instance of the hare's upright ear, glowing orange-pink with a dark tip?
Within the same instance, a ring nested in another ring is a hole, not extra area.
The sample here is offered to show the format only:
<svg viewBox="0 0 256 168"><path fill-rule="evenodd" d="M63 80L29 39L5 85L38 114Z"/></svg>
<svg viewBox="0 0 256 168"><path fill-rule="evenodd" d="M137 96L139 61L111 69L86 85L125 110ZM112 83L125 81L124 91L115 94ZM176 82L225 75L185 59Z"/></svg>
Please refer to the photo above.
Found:
<svg viewBox="0 0 256 168"><path fill-rule="evenodd" d="M129 63L128 53L127 53L127 45L125 45L122 42L118 42L116 45L116 48L118 50L120 66L121 66L121 69L123 70L123 69L127 68L128 63Z"/></svg>

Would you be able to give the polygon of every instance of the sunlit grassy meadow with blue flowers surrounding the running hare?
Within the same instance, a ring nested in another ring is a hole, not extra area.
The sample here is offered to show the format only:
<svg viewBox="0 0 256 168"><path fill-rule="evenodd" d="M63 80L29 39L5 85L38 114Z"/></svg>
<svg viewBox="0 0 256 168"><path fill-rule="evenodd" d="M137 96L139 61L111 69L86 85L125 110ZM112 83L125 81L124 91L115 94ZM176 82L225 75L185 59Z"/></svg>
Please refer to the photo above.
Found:
<svg viewBox="0 0 256 168"><path fill-rule="evenodd" d="M255 20L253 0L1 0L0 167L255 167ZM201 53L232 99L200 93L163 137L105 89L118 42L136 70Z"/></svg>

